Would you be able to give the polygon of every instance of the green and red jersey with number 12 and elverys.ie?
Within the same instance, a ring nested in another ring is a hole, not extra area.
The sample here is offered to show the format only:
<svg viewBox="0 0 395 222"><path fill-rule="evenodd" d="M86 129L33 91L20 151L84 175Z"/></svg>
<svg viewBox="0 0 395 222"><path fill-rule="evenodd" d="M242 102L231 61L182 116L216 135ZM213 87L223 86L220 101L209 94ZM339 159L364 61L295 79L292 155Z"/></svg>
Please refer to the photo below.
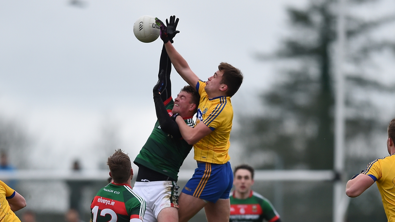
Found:
<svg viewBox="0 0 395 222"><path fill-rule="evenodd" d="M96 194L90 205L92 222L143 220L145 201L128 184L110 183Z"/></svg>

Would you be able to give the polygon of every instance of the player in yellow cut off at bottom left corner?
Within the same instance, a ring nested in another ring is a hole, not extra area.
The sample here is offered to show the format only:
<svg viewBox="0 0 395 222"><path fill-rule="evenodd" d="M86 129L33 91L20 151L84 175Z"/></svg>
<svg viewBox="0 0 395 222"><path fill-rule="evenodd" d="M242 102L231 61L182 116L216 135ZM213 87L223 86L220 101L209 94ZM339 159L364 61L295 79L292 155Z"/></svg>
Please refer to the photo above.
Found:
<svg viewBox="0 0 395 222"><path fill-rule="evenodd" d="M26 207L23 196L0 181L0 221L21 222L14 212L23 207Z"/></svg>

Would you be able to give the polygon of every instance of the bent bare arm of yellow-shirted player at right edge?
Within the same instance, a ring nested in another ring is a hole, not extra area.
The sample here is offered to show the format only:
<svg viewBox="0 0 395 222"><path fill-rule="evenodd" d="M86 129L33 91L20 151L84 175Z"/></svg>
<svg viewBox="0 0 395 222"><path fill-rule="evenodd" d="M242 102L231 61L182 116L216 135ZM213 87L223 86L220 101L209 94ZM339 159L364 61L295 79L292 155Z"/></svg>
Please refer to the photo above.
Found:
<svg viewBox="0 0 395 222"><path fill-rule="evenodd" d="M350 198L355 198L372 186L372 184L374 184L374 180L369 175L361 173L347 182L346 194Z"/></svg>

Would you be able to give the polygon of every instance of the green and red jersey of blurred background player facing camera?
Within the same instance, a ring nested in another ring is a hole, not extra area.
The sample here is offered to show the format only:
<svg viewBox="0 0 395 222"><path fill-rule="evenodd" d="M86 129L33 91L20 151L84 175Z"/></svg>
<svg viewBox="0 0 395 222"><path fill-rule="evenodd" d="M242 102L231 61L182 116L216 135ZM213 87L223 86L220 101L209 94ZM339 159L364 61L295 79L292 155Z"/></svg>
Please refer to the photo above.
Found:
<svg viewBox="0 0 395 222"><path fill-rule="evenodd" d="M229 222L274 222L280 218L270 201L251 190L247 199L235 198L235 192L230 199Z"/></svg>

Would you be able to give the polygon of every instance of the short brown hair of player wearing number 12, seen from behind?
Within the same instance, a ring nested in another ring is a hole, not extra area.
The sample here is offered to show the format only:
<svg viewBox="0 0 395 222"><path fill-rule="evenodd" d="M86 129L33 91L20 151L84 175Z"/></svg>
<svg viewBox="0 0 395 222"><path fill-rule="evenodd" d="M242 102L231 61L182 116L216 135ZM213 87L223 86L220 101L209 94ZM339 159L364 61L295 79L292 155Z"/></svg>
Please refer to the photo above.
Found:
<svg viewBox="0 0 395 222"><path fill-rule="evenodd" d="M118 149L107 159L107 165L110 168L111 176L115 183L124 183L128 181L130 169L132 169L132 163L130 162L128 154Z"/></svg>

